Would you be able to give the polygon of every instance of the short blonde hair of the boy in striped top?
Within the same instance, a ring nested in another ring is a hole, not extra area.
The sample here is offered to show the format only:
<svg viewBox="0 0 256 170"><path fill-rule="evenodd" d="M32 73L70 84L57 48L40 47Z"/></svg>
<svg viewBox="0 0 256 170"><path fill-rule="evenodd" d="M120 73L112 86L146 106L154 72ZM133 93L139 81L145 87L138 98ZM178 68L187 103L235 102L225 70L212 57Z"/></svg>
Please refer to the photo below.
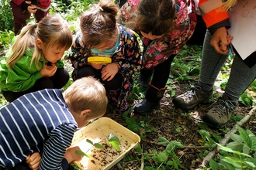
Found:
<svg viewBox="0 0 256 170"><path fill-rule="evenodd" d="M92 76L75 80L64 91L64 99L74 113L88 109L92 111L91 115L94 117L101 117L106 113L108 99L105 87Z"/></svg>

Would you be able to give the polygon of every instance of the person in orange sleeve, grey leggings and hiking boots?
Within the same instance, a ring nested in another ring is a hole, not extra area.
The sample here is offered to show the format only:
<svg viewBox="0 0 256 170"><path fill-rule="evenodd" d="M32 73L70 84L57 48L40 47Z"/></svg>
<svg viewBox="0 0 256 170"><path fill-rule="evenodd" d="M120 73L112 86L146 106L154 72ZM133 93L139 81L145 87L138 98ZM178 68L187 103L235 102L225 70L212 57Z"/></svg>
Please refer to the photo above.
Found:
<svg viewBox="0 0 256 170"><path fill-rule="evenodd" d="M191 90L175 97L172 102L175 107L190 110L198 104L209 104L213 101L213 85L220 69L228 57L228 45L233 39L227 35L230 22L227 10L236 5L239 0L201 0L199 8L206 22L207 32L202 49L202 63L198 83ZM246 32L241 32L246 33ZM232 46L232 45L231 45ZM202 120L212 128L221 128L227 124L237 107L237 101L244 90L250 86L256 77L256 53L251 53L246 59L241 59L236 49L231 66L227 86L213 108L203 115Z"/></svg>

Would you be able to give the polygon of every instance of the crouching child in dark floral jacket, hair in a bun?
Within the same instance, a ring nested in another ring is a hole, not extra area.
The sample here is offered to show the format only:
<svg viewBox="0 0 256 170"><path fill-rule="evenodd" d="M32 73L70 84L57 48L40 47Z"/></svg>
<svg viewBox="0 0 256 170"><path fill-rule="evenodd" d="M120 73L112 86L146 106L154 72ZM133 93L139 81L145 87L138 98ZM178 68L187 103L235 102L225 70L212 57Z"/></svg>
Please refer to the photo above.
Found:
<svg viewBox="0 0 256 170"><path fill-rule="evenodd" d="M133 89L133 73L140 70L140 45L130 29L116 24L118 6L112 0L101 0L81 15L80 27L71 47L73 80L95 76L107 91L109 100L125 111L126 99ZM110 63L92 63L89 57L108 57Z"/></svg>

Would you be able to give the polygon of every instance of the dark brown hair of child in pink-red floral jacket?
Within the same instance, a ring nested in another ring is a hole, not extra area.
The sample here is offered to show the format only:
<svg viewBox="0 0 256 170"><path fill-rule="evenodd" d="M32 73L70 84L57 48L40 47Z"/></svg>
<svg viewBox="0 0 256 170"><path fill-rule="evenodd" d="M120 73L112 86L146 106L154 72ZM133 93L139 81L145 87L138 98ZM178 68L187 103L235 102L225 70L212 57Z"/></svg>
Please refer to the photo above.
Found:
<svg viewBox="0 0 256 170"><path fill-rule="evenodd" d="M140 0L135 27L142 32L161 36L173 28L175 0Z"/></svg>

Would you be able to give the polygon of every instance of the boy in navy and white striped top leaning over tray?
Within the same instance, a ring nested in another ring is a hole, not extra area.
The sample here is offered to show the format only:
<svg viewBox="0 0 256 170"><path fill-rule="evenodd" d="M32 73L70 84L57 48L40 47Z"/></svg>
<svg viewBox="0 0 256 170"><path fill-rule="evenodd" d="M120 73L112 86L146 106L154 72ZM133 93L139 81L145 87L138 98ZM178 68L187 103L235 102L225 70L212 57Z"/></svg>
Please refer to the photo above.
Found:
<svg viewBox="0 0 256 170"><path fill-rule="evenodd" d="M0 169L68 169L82 158L75 154L79 147L69 148L74 132L102 117L107 103L93 77L76 80L64 93L45 89L19 97L0 110Z"/></svg>

